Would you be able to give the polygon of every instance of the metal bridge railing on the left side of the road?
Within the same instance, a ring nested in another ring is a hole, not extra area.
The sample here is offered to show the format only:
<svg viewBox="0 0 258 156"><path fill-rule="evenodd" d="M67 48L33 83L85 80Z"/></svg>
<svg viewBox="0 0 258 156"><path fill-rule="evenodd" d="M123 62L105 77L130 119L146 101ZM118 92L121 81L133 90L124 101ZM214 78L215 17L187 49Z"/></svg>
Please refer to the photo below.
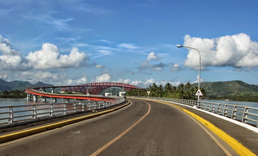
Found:
<svg viewBox="0 0 258 156"><path fill-rule="evenodd" d="M64 102L64 103L46 103L46 104L26 104L17 106L0 106L0 115L6 117L0 118L0 121L8 120L7 123L13 123L16 118L24 120L31 116L31 119L39 117L55 116L60 114L68 114L71 112L91 111L95 109L104 109L116 104L124 102L124 98L115 98L100 101L80 101L80 102ZM20 121L17 120L17 121ZM1 123L1 122L0 122Z"/></svg>

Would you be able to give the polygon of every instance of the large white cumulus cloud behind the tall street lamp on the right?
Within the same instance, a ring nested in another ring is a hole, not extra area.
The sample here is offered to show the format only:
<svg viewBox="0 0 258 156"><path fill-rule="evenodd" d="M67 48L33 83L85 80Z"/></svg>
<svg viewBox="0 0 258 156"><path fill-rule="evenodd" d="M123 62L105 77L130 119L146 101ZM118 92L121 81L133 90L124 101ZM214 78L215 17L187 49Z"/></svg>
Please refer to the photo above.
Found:
<svg viewBox="0 0 258 156"><path fill-rule="evenodd" d="M245 33L217 38L198 38L185 35L184 46L196 48L201 54L202 68L208 66L232 66L235 68L258 65L258 43ZM189 49L185 66L198 70L199 55Z"/></svg>

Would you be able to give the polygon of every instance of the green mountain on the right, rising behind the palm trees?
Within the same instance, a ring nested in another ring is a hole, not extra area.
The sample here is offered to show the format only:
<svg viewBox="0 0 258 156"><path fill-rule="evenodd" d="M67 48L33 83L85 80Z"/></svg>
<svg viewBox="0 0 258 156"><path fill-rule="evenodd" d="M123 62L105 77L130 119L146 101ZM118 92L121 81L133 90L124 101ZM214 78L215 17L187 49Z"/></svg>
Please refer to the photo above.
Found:
<svg viewBox="0 0 258 156"><path fill-rule="evenodd" d="M198 83L192 84L192 87L198 86ZM200 87L204 88L207 96L228 96L238 95L245 92L258 92L258 86L255 84L247 84L243 81L222 81L222 82L201 82ZM250 93L251 94L251 93Z"/></svg>

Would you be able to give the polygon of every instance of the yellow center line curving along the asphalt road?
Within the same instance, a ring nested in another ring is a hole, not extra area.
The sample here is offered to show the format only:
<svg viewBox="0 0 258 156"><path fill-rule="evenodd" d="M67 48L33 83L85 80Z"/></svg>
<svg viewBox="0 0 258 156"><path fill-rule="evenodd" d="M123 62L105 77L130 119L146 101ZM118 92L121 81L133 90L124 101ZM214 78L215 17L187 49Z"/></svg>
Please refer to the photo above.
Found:
<svg viewBox="0 0 258 156"><path fill-rule="evenodd" d="M145 102L145 101L142 101ZM148 102L145 102L148 104ZM128 131L130 131L135 125L137 125L140 121L142 121L142 119L148 115L150 113L150 104L149 105L149 109L148 112L141 117L141 119L139 119L136 123L134 123L132 126L130 126L128 129L126 129L123 133L121 133L120 135L118 135L115 139L111 140L109 143L107 143L106 145L104 145L103 147L101 147L100 149L98 149L96 152L92 153L90 156L96 156L98 155L100 152L102 152L104 149L106 149L108 146L110 146L111 144L113 144L115 141L117 141L118 139L120 139L123 135L125 135Z"/></svg>

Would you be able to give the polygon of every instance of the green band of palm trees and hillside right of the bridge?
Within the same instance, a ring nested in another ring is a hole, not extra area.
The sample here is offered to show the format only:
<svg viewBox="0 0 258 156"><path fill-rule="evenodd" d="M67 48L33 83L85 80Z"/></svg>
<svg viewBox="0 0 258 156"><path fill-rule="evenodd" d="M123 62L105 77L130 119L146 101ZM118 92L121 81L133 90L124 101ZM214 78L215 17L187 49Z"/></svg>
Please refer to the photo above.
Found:
<svg viewBox="0 0 258 156"><path fill-rule="evenodd" d="M193 86L193 87L192 87ZM209 100L231 100L231 101L249 101L258 102L258 86L250 85L242 81L227 81L227 82L202 82L200 88L202 98ZM220 86L221 88L219 88ZM234 88L235 86L235 88ZM226 88L229 88L228 90ZM187 82L185 85L171 86L167 83L165 88L161 85L157 86L153 83L150 86L150 96L165 97L165 98L180 98L188 100L197 100L195 93L198 90L198 84L190 84ZM253 92L239 92L242 90L251 90ZM219 94L221 93L221 94ZM148 96L145 90L131 90L127 92L128 96ZM224 96L220 96L224 95Z"/></svg>

